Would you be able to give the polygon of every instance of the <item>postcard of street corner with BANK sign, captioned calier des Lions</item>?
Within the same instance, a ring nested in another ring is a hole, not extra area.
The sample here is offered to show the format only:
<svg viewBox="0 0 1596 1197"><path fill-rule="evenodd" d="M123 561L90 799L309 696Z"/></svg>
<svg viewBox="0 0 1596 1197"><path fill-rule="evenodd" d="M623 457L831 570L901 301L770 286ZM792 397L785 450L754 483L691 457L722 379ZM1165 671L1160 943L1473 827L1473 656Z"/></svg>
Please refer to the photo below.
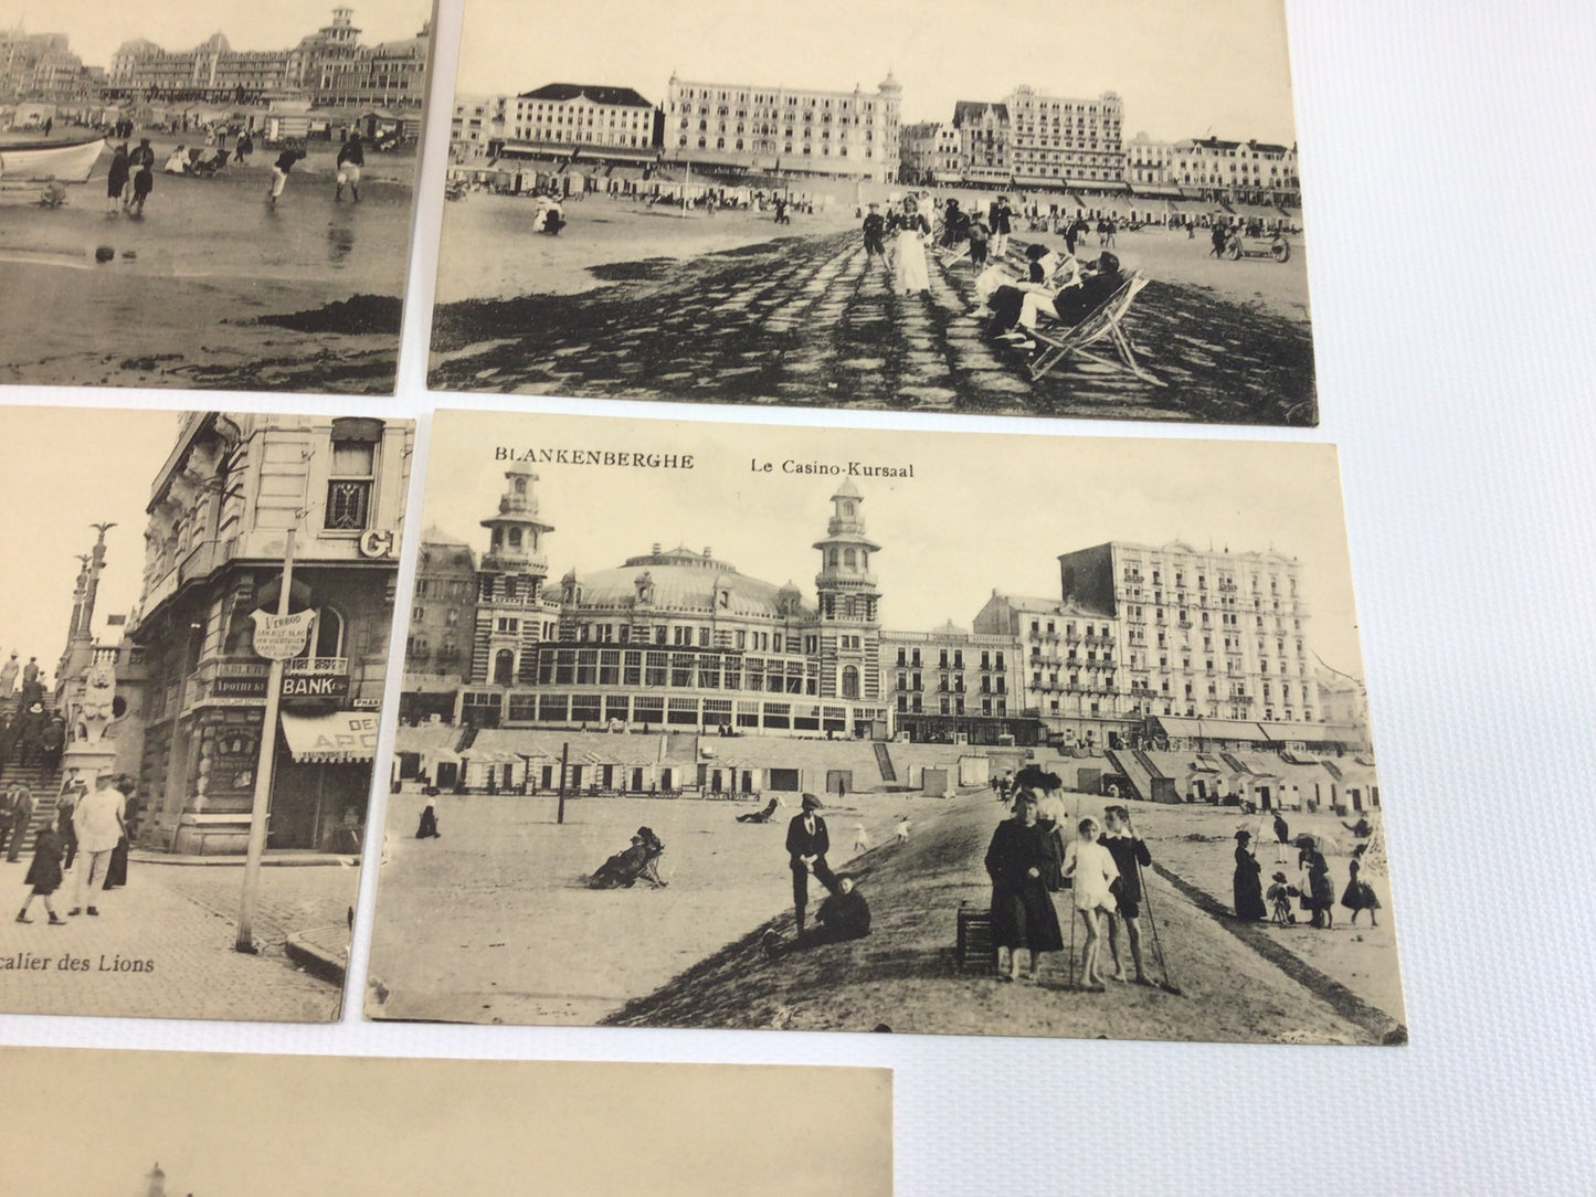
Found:
<svg viewBox="0 0 1596 1197"><path fill-rule="evenodd" d="M338 1017L413 440L0 407L0 1012Z"/></svg>

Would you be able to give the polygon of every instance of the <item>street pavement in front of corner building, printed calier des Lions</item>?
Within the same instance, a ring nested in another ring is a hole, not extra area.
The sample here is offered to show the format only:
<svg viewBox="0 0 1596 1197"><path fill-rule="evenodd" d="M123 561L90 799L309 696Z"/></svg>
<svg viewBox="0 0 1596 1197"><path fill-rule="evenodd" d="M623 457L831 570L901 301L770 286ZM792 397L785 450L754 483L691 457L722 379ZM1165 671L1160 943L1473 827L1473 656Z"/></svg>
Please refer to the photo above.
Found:
<svg viewBox="0 0 1596 1197"><path fill-rule="evenodd" d="M14 921L27 894L26 871L26 862L0 865L0 892L13 899L0 919L0 1010L6 1013L259 1021L338 1017L342 993L295 969L282 940L305 926L343 921L354 900L354 868L263 868L259 956L233 950L239 867L134 859L128 887L99 895L99 916L78 915L64 927L51 927L37 900L30 926ZM73 884L69 873L54 897L62 916L73 905ZM45 967L30 967L40 959Z"/></svg>

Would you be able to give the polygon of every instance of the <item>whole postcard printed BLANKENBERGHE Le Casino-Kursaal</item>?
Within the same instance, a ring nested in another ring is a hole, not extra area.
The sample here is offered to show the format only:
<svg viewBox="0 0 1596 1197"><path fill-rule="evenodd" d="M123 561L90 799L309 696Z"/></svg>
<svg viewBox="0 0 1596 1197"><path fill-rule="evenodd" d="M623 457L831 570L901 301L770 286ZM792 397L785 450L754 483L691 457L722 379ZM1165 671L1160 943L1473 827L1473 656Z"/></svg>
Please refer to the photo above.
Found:
<svg viewBox="0 0 1596 1197"><path fill-rule="evenodd" d="M370 1017L1406 1037L1333 447L440 412L425 527Z"/></svg>

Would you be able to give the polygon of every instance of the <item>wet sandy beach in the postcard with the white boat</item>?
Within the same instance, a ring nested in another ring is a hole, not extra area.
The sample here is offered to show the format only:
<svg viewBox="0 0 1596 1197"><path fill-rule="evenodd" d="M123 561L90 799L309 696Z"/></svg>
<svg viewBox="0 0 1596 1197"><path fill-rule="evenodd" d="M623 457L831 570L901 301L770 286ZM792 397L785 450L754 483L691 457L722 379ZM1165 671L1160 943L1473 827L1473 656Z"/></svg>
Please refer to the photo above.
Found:
<svg viewBox="0 0 1596 1197"><path fill-rule="evenodd" d="M174 144L152 139L158 168ZM158 171L142 217L105 212L109 153L64 207L6 206L0 381L391 393L415 158L370 153L362 203L335 204L334 155L276 207L260 148L215 179Z"/></svg>

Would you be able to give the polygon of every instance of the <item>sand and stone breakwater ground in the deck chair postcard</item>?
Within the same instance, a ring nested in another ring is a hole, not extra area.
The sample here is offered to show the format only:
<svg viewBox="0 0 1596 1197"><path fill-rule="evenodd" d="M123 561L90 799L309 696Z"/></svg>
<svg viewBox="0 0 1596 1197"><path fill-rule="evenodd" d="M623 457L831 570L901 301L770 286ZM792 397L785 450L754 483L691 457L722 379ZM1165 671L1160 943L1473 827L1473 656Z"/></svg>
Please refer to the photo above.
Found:
<svg viewBox="0 0 1596 1197"><path fill-rule="evenodd" d="M900 294L851 206L689 215L592 196L560 236L536 207L474 193L445 214L429 381L445 391L688 402L1317 423L1307 263L1219 260L1203 238L1122 231L1149 284L1124 327L1146 375L1077 358L1031 380L988 340L969 262ZM1015 246L1061 238L1017 233ZM1095 235L1082 257L1095 257Z"/></svg>

